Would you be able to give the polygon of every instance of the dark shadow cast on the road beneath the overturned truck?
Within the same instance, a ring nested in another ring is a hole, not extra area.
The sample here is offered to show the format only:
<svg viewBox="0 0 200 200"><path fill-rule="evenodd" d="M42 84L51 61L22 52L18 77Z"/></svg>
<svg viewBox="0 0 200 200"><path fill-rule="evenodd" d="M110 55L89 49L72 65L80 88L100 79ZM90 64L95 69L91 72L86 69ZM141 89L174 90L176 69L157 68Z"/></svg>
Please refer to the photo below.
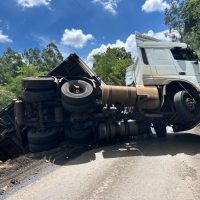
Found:
<svg viewBox="0 0 200 200"><path fill-rule="evenodd" d="M75 159L84 152L84 156ZM55 160L54 163L58 165L87 163L96 159L95 154L97 152L102 152L104 159L129 156L174 156L180 153L195 155L200 153L200 135L193 133L177 133L169 134L167 138L157 138L153 136L150 139L135 139L125 143L89 150L85 149L85 151L75 152L71 158L58 159Z"/></svg>

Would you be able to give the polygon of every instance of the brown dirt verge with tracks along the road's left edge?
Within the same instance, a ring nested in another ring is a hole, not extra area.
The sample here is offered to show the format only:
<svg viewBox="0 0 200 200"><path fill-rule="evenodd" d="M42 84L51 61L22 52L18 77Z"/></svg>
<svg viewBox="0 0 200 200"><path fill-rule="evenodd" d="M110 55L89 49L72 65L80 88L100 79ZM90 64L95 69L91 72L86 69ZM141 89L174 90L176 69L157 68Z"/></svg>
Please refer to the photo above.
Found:
<svg viewBox="0 0 200 200"><path fill-rule="evenodd" d="M6 162L0 161L0 195L3 195L10 187L20 184L24 179L37 174L44 165L79 154L84 149L86 149L84 146L62 144L50 151L30 153Z"/></svg>

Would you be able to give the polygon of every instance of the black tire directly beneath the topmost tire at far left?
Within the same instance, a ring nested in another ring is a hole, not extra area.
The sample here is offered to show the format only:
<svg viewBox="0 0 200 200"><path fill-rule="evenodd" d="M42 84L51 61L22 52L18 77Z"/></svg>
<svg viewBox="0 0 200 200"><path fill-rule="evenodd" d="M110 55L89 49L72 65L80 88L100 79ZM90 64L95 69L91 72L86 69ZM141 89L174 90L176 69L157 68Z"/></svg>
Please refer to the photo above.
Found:
<svg viewBox="0 0 200 200"><path fill-rule="evenodd" d="M43 101L52 101L56 99L57 91L56 90L41 90L41 91L22 91L22 99L28 103L36 103Z"/></svg>

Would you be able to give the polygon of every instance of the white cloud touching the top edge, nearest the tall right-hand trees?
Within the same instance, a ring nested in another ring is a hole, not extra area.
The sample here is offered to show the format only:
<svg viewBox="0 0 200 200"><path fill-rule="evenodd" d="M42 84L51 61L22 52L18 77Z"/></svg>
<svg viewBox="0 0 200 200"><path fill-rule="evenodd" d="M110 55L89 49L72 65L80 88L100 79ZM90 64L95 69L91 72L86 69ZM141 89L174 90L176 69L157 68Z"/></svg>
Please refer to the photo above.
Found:
<svg viewBox="0 0 200 200"><path fill-rule="evenodd" d="M169 4L164 0L146 0L142 5L142 10L150 12L163 12L166 8L169 8Z"/></svg>

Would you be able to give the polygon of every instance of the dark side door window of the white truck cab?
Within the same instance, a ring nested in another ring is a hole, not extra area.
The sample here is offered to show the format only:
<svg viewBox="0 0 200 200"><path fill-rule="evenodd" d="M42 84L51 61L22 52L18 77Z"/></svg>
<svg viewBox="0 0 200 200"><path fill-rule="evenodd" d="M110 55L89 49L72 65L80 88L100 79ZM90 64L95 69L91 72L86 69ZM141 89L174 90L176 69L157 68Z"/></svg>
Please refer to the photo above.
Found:
<svg viewBox="0 0 200 200"><path fill-rule="evenodd" d="M175 60L196 60L193 52L189 49L174 48L171 49Z"/></svg>

